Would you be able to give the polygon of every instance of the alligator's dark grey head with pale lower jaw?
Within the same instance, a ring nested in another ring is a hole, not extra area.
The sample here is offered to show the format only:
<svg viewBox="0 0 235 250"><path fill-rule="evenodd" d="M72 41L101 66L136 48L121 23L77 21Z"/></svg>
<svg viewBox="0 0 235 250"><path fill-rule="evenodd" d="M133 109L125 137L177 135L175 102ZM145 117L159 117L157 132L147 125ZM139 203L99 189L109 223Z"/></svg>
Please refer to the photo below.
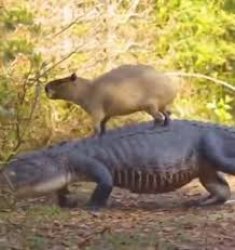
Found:
<svg viewBox="0 0 235 250"><path fill-rule="evenodd" d="M58 190L72 178L65 163L35 155L13 159L0 171L0 193L26 197Z"/></svg>

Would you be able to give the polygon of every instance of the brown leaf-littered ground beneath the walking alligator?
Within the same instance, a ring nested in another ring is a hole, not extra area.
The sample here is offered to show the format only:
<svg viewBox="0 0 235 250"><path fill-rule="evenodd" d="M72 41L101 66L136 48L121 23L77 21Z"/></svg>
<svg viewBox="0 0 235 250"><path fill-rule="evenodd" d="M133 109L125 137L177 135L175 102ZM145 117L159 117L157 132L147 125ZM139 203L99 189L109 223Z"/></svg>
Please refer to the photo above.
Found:
<svg viewBox="0 0 235 250"><path fill-rule="evenodd" d="M235 178L227 178L235 191ZM0 250L229 250L235 249L235 205L186 207L206 192L197 181L176 192L136 195L115 189L109 207L84 210L90 185L72 187L76 209L54 197L18 202L0 212Z"/></svg>

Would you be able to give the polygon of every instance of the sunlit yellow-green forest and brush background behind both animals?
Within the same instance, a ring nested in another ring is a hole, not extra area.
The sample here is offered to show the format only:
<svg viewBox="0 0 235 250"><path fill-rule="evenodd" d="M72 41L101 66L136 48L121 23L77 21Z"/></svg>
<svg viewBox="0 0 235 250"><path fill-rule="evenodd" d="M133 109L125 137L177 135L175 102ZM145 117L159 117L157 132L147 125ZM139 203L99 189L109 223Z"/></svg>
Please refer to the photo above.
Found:
<svg viewBox="0 0 235 250"><path fill-rule="evenodd" d="M0 12L0 161L92 133L82 109L46 98L56 77L143 63L235 82L233 0L4 0ZM233 91L184 79L174 117L234 125ZM108 126L146 119L133 114Z"/></svg>

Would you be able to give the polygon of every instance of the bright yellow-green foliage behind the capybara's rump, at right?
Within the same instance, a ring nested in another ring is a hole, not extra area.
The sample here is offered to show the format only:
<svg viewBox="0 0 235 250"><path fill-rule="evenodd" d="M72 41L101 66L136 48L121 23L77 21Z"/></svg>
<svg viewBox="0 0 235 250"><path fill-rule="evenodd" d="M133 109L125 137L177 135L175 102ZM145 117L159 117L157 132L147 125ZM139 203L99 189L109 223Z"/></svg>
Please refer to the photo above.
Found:
<svg viewBox="0 0 235 250"><path fill-rule="evenodd" d="M157 1L155 50L164 58L167 68L200 72L230 82L235 80L235 19L234 14L223 7L223 1ZM178 109L181 104L187 105L197 114L203 109L200 119L233 122L230 110L234 102L230 97L227 103L225 90L202 80L195 81L193 89L198 94L182 96ZM184 90L187 92L187 86ZM192 117L198 118L197 114Z"/></svg>

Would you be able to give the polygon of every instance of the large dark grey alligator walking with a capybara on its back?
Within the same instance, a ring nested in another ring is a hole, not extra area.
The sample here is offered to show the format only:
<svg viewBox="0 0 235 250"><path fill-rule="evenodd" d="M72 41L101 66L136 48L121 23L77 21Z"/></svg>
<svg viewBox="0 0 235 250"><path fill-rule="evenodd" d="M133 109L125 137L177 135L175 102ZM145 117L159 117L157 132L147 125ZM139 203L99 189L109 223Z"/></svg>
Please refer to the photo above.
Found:
<svg viewBox="0 0 235 250"><path fill-rule="evenodd" d="M157 194L198 178L209 192L198 205L220 204L230 198L223 173L235 175L234 148L231 127L187 120L172 120L166 127L143 122L19 154L1 170L0 191L21 198L54 192L58 204L68 207L69 184L91 181L97 185L88 206L101 208L115 186Z"/></svg>

